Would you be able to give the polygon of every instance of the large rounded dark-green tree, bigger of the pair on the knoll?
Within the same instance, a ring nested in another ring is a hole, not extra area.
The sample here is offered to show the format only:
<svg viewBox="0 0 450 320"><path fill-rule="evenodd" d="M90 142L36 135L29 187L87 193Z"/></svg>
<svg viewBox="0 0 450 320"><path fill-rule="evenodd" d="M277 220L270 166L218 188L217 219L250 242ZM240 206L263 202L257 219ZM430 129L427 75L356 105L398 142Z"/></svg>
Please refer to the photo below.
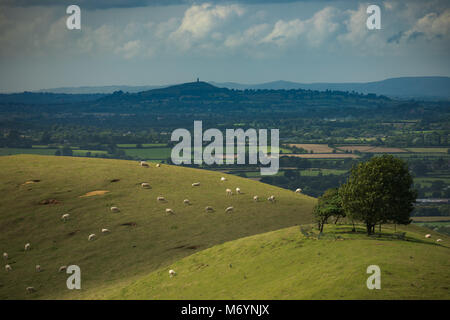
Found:
<svg viewBox="0 0 450 320"><path fill-rule="evenodd" d="M382 223L408 224L417 192L406 162L391 155L354 166L339 193L347 215L366 224L367 234Z"/></svg>

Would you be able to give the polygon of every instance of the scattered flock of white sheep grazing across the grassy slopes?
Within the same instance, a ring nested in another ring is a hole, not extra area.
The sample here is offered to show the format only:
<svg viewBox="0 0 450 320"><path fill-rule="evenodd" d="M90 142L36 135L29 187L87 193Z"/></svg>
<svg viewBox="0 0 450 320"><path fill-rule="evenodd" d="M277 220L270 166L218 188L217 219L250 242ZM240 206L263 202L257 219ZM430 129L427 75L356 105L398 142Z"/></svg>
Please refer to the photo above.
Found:
<svg viewBox="0 0 450 320"><path fill-rule="evenodd" d="M149 164L148 164L147 162L145 162L145 161L141 161L139 164L140 164L140 166L142 166L142 167L149 167ZM156 167L159 168L159 167L161 167L161 165L158 163L158 164L156 164ZM220 178L220 181L227 181L227 179L226 179L225 177L221 177L221 178ZM194 183L192 183L192 186L193 186L193 187L198 187L198 186L200 186L200 182L194 182ZM143 182L143 183L141 183L141 187L142 187L142 188L148 189L148 188L150 188L150 184L147 183L147 182ZM231 189L226 189L225 191L226 191L226 195L228 195L228 196L233 195L233 192L232 192ZM301 189L297 189L295 192L296 192L296 193L301 193L301 191L302 191ZM242 192L241 192L241 189L240 189L240 188L236 188L236 194L241 194L241 193L242 193ZM158 196L156 200L157 200L158 202L165 202L165 201L166 201L165 198L164 198L163 196ZM253 200L254 200L255 202L258 202L258 201L259 201L259 197L258 197L257 195L255 195L255 196L253 196ZM274 202L275 202L275 196L274 196L274 195L271 195L270 197L267 198L267 200L270 201L271 203L274 203ZM183 200L183 203L184 203L185 205L190 205L190 204L191 204L190 201L189 201L189 199L184 199L184 200ZM119 209L118 207L115 207L115 206L114 206L114 207L111 207L110 210L111 210L111 212L113 212L113 213L118 213L118 212L120 212L120 209ZM214 212L214 209L213 209L213 207L211 207L211 206L207 206L207 207L205 207L205 211L206 211L206 212ZM225 209L225 212L226 212L226 213L231 213L231 212L233 212L233 211L234 211L234 208L233 208L233 207L227 207L227 208ZM173 211L171 208L167 208L165 212L166 212L167 214L174 214L174 211ZM70 218L70 214L68 214L68 213L65 213L65 214L63 214L63 215L61 216L61 220L62 220L63 222L66 222L67 220L69 220L69 218ZM109 229L106 229L106 228L102 228L102 229L101 229L101 232L104 233L104 234L106 234L106 233L109 233L110 230L109 230ZM95 233L91 233L91 234L88 236L88 241L93 241L93 240L95 240L96 238L97 238L97 235L96 235ZM31 249L31 244L30 244L30 243L26 243L26 244L25 244L25 247L24 247L24 250L25 250L25 251L29 251L30 249ZM5 265L5 270L6 270L6 272L12 271L11 265L8 264L8 258L9 258L8 253L7 253L7 252L4 252L4 253L3 253L3 259L4 259L4 260L6 261L6 263L7 263L7 264ZM64 272L66 269L67 269L67 266L61 266L61 267L58 269L58 272ZM41 272L41 271L42 271L42 268L41 268L40 265L36 265L35 270L36 270L36 272ZM169 275L170 275L171 277L173 277L174 275L176 275L176 272L175 272L174 270L170 270L170 271L169 271ZM33 293L33 292L35 292L36 290L35 290L34 287L27 287L27 288L26 288L26 291L27 291L28 293Z"/></svg>

